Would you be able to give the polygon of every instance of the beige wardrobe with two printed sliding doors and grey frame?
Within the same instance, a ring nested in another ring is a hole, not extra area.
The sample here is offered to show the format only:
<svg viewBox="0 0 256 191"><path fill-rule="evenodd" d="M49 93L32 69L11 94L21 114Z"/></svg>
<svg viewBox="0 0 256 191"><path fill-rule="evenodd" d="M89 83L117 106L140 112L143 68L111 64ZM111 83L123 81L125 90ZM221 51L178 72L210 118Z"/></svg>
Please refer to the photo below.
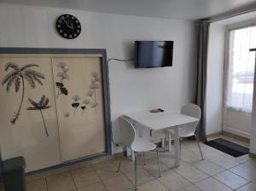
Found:
<svg viewBox="0 0 256 191"><path fill-rule="evenodd" d="M105 49L0 49L3 159L26 171L111 153Z"/></svg>

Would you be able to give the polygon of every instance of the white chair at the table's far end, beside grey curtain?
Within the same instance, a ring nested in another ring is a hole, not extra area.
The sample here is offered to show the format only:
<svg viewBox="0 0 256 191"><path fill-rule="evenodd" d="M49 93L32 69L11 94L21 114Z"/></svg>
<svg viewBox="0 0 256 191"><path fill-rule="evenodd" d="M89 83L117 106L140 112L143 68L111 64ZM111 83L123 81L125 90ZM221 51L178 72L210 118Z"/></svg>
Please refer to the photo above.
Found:
<svg viewBox="0 0 256 191"><path fill-rule="evenodd" d="M189 103L187 105L184 105L181 109L181 113L185 114L185 115L189 115L191 117L197 118L197 119L201 119L201 108L198 107L195 104ZM198 142L198 137L195 134L195 130L196 127L198 125L199 121L197 122L193 122L193 123L189 123L189 124L183 124L180 128L179 128L179 143L180 143L180 149L181 149L181 142L182 139L185 137L189 137L189 136L195 136L196 142L198 144L198 148L199 151L201 153L201 159L203 160L203 154L201 152L201 147L200 144ZM167 130L167 133L169 135L173 135L172 130ZM180 150L181 151L181 150ZM179 152L181 153L181 152Z"/></svg>

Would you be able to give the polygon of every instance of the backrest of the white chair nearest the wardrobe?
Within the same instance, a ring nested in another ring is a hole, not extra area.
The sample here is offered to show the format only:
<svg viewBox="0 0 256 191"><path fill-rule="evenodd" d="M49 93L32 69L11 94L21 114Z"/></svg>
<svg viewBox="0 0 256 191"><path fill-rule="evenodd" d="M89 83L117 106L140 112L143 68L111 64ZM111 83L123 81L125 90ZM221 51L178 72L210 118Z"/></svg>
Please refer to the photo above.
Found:
<svg viewBox="0 0 256 191"><path fill-rule="evenodd" d="M128 148L131 148L131 144L136 137L136 130L128 119L124 116L119 117L119 128L122 139L122 144Z"/></svg>

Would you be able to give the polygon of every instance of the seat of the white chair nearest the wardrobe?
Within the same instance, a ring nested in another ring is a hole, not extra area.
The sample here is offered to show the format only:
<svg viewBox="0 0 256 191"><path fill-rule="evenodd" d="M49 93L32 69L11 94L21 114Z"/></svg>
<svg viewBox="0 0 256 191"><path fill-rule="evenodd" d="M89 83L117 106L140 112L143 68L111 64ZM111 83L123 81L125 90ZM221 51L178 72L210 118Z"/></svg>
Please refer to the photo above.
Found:
<svg viewBox="0 0 256 191"><path fill-rule="evenodd" d="M147 152L154 150L156 145L143 138L136 138L131 144L131 150L135 152Z"/></svg>

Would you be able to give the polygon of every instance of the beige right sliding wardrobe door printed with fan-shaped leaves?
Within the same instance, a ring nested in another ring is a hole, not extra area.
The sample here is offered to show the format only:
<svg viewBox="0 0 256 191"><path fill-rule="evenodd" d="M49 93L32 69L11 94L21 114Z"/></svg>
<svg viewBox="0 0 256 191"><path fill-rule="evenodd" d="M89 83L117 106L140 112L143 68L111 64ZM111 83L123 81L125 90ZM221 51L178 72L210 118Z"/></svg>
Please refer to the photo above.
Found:
<svg viewBox="0 0 256 191"><path fill-rule="evenodd" d="M62 162L106 152L101 59L53 58Z"/></svg>

